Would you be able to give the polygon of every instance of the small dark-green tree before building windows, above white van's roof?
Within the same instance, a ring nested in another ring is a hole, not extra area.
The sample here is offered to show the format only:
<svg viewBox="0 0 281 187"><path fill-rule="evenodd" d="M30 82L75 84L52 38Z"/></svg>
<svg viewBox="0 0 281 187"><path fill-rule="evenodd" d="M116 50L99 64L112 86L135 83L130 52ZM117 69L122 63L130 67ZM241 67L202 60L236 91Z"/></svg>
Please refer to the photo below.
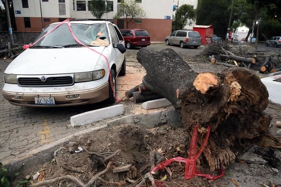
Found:
<svg viewBox="0 0 281 187"><path fill-rule="evenodd" d="M109 12L108 6L105 4L105 0L90 0L88 1L89 11L97 19L102 19L102 16Z"/></svg>

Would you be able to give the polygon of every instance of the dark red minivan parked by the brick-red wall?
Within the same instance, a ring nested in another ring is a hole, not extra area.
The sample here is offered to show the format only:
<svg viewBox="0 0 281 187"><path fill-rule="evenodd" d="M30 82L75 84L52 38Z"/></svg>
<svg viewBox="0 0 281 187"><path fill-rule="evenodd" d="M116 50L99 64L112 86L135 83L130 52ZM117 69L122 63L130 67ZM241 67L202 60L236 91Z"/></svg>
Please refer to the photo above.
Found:
<svg viewBox="0 0 281 187"><path fill-rule="evenodd" d="M127 49L132 49L133 47L146 47L150 45L150 36L146 30L121 29L120 31L125 39Z"/></svg>

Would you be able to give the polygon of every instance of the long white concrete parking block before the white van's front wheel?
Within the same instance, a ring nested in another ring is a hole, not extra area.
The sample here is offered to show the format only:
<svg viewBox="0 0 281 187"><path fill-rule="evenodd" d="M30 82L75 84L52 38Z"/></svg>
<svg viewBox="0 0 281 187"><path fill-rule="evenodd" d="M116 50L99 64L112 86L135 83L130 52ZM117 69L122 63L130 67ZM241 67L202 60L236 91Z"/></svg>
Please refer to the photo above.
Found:
<svg viewBox="0 0 281 187"><path fill-rule="evenodd" d="M106 108L101 108L97 110L92 110L89 112L84 112L70 117L70 124L72 127L81 126L85 124L94 123L100 120L104 120L109 117L114 117L124 113L123 105L113 105Z"/></svg>

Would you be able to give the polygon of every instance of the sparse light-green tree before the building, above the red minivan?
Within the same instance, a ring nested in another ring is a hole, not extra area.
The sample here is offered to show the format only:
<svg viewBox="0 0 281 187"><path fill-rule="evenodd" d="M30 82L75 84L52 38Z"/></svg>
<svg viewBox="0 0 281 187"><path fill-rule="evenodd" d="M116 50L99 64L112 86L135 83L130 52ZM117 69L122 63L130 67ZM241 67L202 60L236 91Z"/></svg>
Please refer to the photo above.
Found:
<svg viewBox="0 0 281 187"><path fill-rule="evenodd" d="M116 13L114 19L119 19L125 15L127 23L126 28L128 28L128 24L133 20L133 18L144 18L146 16L146 13L140 6L140 3L135 0L121 0L119 6L122 10L120 12L122 13Z"/></svg>

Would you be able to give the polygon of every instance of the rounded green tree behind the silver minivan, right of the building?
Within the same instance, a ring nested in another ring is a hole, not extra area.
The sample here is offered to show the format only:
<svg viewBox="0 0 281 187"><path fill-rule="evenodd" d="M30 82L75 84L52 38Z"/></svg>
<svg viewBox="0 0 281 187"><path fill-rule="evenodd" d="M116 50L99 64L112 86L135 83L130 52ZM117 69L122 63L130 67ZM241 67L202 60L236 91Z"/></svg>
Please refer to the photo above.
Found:
<svg viewBox="0 0 281 187"><path fill-rule="evenodd" d="M196 11L191 7L191 5L184 4L180 6L176 12L176 15L173 19L173 31L181 30L187 24L187 20L195 19Z"/></svg>

